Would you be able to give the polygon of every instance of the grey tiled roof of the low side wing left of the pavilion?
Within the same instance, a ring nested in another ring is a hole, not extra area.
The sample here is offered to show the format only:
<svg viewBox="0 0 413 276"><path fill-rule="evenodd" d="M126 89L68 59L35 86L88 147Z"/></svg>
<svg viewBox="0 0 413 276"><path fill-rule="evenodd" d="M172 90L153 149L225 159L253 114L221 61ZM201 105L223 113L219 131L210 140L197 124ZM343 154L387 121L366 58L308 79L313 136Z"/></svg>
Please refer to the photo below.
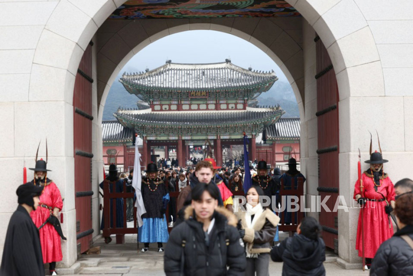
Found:
<svg viewBox="0 0 413 276"><path fill-rule="evenodd" d="M118 121L102 122L103 142L131 142L133 132L131 129L124 128ZM138 146L142 146L142 138L136 138Z"/></svg>

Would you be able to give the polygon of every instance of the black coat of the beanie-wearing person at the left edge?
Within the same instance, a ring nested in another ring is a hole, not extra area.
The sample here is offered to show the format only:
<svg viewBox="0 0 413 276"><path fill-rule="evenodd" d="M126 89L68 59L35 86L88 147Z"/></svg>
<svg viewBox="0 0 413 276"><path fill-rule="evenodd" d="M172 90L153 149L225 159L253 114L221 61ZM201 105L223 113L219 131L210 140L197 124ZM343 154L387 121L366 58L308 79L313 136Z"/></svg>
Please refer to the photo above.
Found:
<svg viewBox="0 0 413 276"><path fill-rule="evenodd" d="M0 275L44 276L39 230L22 206L17 207L8 223Z"/></svg>

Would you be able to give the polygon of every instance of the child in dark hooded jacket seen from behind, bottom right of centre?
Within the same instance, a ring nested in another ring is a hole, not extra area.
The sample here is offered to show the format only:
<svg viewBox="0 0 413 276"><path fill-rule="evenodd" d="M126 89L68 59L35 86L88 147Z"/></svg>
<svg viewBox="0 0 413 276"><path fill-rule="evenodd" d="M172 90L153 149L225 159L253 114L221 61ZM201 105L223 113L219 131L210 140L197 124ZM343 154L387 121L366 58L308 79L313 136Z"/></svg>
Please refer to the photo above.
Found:
<svg viewBox="0 0 413 276"><path fill-rule="evenodd" d="M324 276L325 244L319 237L321 227L313 217L305 217L297 233L271 250L274 262L284 262L283 276Z"/></svg>

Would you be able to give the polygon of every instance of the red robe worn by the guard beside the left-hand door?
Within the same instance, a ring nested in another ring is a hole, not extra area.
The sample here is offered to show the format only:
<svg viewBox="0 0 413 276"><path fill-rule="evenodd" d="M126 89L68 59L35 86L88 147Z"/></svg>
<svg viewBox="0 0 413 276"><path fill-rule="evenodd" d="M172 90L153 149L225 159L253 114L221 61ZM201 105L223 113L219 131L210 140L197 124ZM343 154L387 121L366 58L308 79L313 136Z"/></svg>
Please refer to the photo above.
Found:
<svg viewBox="0 0 413 276"><path fill-rule="evenodd" d="M50 216L50 210L45 207L40 207L41 204L53 208L63 207L62 196L54 182L48 182L43 189L43 194L40 196L39 207L30 213L36 227L40 227L43 222ZM62 261L62 246L60 244L60 236L52 224L46 223L40 230L40 244L42 246L43 263L52 263Z"/></svg>

